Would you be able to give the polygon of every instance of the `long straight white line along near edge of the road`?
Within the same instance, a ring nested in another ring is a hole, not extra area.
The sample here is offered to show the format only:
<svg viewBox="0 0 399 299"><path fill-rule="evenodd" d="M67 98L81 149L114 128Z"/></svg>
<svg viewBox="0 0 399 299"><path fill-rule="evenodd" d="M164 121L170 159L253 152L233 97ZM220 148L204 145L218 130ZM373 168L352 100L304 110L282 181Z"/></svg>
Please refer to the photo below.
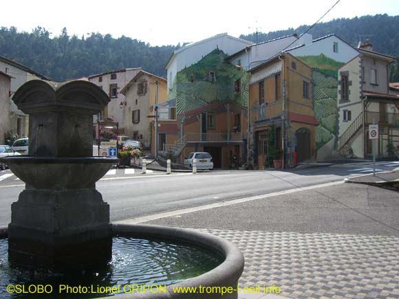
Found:
<svg viewBox="0 0 399 299"><path fill-rule="evenodd" d="M334 186L334 185L338 185L338 184L344 184L344 181L333 181L333 182L327 183L327 184L319 184L319 185L308 186L308 187L303 187L303 188L294 188L294 189L290 189L290 190L272 192L272 193L268 193L268 194L264 194L264 195L256 195L256 196L252 196L252 197L244 197L241 199L233 199L233 200L229 200L229 201L221 201L218 203L210 203L205 206L186 208L186 209L182 209L182 210L175 210L175 211L171 211L171 212L163 212L163 213L152 214L152 215L148 215L148 216L144 216L144 217L116 221L116 223L125 223L125 224L142 223L142 222L153 221L153 220L166 218L166 217L176 217L177 215L187 214L187 213L191 213L191 212L209 210L209 209L220 208L220 207L224 207L224 206L231 206L231 205L235 205L236 203L245 203L247 201L254 201L257 199L265 199L268 197L275 197L277 195L285 195L285 194L289 194L289 193L300 192L300 191L305 191L305 190L312 190L312 189L322 188L322 187L327 187L327 186Z"/></svg>

